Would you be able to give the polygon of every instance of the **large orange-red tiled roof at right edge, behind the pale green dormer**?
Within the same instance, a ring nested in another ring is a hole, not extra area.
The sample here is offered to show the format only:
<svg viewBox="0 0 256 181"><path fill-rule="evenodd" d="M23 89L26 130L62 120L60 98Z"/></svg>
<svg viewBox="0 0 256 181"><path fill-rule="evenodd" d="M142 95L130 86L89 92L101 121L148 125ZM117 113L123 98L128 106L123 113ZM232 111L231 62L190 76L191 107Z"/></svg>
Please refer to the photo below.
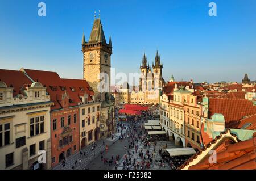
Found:
<svg viewBox="0 0 256 181"><path fill-rule="evenodd" d="M255 114L256 106L247 99L209 98L209 118L214 113L224 115L226 126L227 123Z"/></svg>

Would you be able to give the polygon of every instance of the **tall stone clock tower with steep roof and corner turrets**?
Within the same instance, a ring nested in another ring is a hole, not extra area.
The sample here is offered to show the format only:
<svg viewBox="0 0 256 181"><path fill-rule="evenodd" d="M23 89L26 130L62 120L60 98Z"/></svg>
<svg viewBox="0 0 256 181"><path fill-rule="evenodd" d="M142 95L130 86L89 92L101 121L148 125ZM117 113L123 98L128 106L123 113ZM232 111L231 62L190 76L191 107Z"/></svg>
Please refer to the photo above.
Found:
<svg viewBox="0 0 256 181"><path fill-rule="evenodd" d="M89 41L82 36L84 54L84 79L92 87L95 97L101 101L101 137L114 133L114 102L110 94L110 68L112 41L106 43L100 18L94 19ZM102 82L104 86L102 86Z"/></svg>

